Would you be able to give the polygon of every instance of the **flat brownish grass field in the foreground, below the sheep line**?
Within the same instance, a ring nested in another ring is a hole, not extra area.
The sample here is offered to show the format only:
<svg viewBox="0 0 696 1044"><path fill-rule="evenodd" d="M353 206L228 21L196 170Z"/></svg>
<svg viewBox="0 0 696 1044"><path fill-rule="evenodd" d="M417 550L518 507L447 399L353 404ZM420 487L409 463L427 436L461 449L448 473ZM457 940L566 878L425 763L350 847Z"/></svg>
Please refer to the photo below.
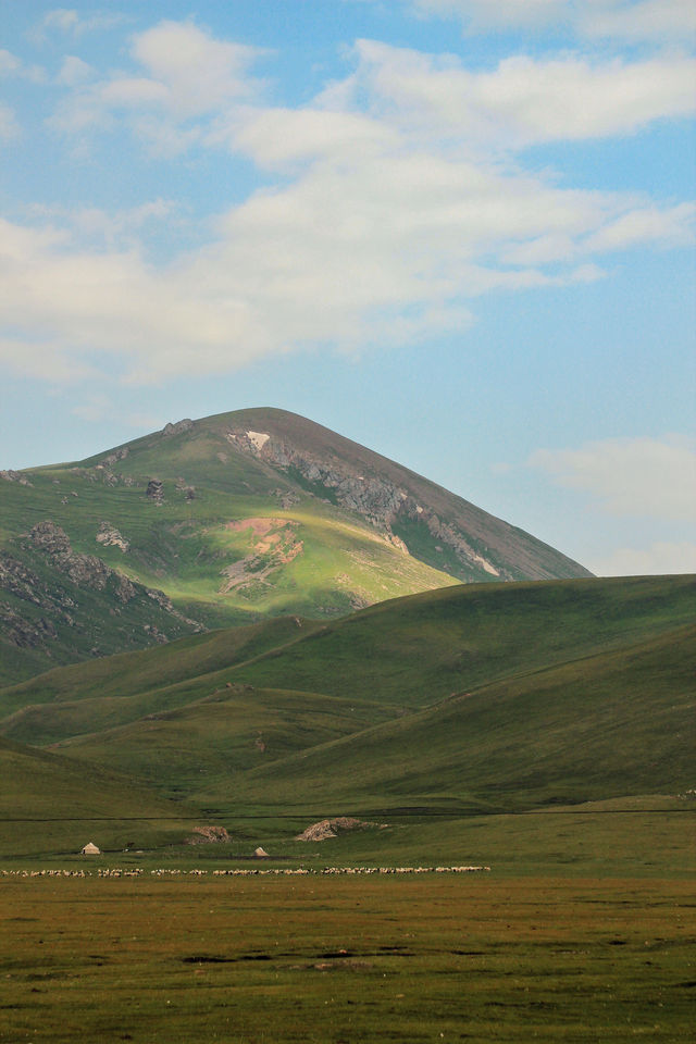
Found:
<svg viewBox="0 0 696 1044"><path fill-rule="evenodd" d="M686 878L0 880L0 1040L692 1040Z"/></svg>

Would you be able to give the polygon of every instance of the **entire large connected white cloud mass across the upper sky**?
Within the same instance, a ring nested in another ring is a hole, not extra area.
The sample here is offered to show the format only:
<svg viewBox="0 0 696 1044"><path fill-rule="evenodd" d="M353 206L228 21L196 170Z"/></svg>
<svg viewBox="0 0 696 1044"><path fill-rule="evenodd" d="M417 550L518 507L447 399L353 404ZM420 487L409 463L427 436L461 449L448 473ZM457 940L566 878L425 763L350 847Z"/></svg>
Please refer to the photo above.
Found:
<svg viewBox="0 0 696 1044"><path fill-rule="evenodd" d="M163 22L134 37L137 69L67 92L54 116L65 130L125 123L160 156L228 148L283 177L166 264L146 260L147 223L172 215L162 200L54 212L42 231L7 223L5 313L25 344L9 362L40 374L49 356L108 355L151 381L309 346L426 340L469 324L476 295L600 278L605 251L687 236L693 208L561 188L506 154L681 112L682 59L472 73L363 41L351 75L289 109L253 104L257 53Z"/></svg>

